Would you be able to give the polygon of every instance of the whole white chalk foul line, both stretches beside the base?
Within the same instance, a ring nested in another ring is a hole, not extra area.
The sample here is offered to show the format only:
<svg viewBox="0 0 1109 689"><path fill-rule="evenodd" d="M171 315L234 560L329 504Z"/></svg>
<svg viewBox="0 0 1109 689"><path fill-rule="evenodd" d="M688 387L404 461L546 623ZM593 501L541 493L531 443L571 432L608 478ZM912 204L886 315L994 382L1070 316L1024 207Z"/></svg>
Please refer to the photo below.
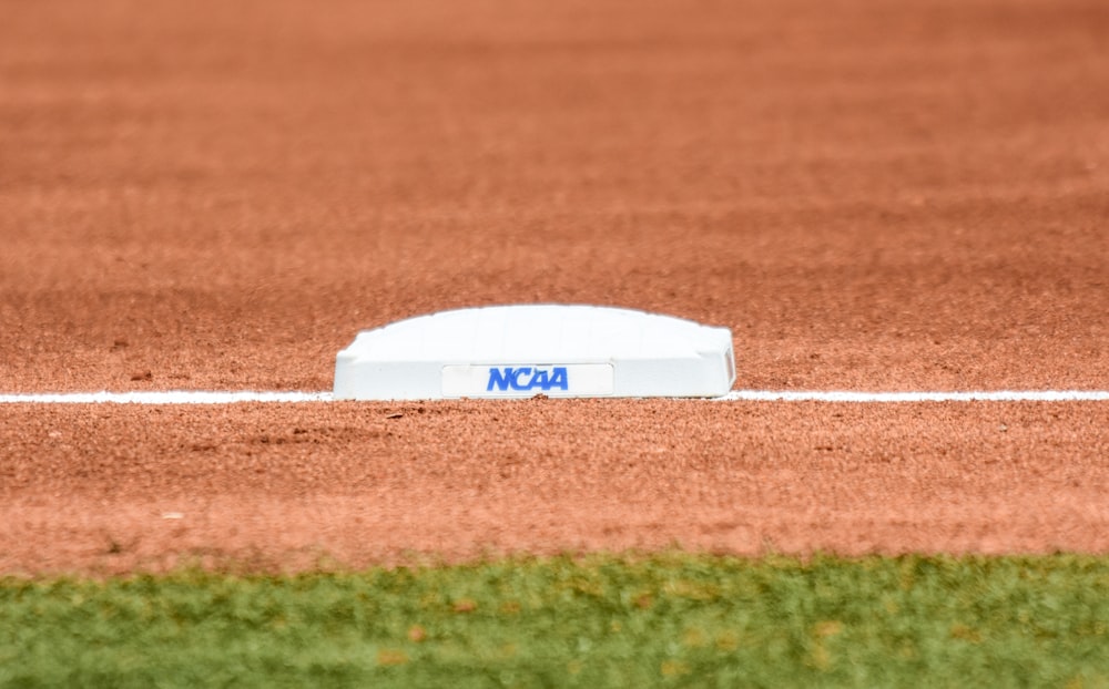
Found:
<svg viewBox="0 0 1109 689"><path fill-rule="evenodd" d="M0 394L0 404L235 404L332 402L330 392L166 390ZM733 390L714 402L1107 402L1109 390L974 390L862 392L851 390Z"/></svg>

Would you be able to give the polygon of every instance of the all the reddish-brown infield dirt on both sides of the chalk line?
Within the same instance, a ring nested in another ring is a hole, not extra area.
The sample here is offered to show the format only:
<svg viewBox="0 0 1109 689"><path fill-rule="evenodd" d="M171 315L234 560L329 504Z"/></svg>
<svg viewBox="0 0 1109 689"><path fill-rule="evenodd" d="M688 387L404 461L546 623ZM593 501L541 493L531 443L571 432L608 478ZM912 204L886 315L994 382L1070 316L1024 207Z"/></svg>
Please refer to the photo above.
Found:
<svg viewBox="0 0 1109 689"><path fill-rule="evenodd" d="M606 304L742 388L1109 388L1100 0L7 2L0 392ZM400 418L389 419L393 413ZM1109 552L1109 405L0 407L0 570Z"/></svg>

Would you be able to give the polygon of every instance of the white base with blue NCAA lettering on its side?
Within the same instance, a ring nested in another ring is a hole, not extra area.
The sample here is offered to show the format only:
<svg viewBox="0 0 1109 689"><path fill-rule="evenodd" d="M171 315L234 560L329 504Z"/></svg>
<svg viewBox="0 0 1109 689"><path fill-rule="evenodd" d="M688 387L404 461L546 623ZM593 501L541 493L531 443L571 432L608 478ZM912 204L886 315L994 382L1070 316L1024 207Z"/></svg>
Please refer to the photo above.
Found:
<svg viewBox="0 0 1109 689"><path fill-rule="evenodd" d="M335 361L337 400L720 397L726 328L597 306L441 311L359 332Z"/></svg>

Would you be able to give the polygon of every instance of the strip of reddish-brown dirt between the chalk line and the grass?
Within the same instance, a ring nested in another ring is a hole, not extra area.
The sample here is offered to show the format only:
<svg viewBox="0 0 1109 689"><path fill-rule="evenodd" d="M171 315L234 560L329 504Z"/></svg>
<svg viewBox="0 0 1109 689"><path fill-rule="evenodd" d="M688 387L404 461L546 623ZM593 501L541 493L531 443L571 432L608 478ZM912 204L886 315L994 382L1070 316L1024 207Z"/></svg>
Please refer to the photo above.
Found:
<svg viewBox="0 0 1109 689"><path fill-rule="evenodd" d="M398 417L399 414L399 417ZM1109 552L1103 405L3 410L0 570Z"/></svg>

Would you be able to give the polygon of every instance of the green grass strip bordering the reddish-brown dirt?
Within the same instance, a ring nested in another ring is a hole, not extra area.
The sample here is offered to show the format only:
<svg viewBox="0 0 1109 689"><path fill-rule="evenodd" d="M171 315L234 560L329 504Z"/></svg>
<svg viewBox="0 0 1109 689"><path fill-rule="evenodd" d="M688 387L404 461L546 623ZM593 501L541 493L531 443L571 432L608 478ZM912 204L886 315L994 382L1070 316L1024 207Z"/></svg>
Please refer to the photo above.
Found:
<svg viewBox="0 0 1109 689"><path fill-rule="evenodd" d="M2 687L1109 686L1109 558L0 579Z"/></svg>

